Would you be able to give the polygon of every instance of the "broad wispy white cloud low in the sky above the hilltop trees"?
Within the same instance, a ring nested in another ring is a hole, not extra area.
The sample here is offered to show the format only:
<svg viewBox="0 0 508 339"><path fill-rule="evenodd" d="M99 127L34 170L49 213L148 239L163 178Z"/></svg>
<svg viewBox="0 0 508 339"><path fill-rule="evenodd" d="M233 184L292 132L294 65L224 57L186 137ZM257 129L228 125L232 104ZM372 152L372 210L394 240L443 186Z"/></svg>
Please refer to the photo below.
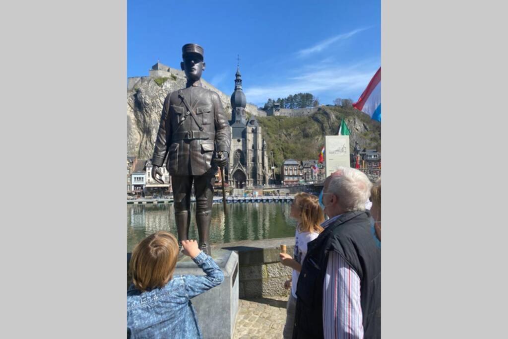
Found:
<svg viewBox="0 0 508 339"><path fill-rule="evenodd" d="M294 76L285 79L284 84L267 84L246 87L245 96L249 102L258 105L268 98L285 98L296 93L312 93L319 97L350 97L361 93L379 68L376 61L363 61L348 66L323 64L321 67L294 72ZM352 98L353 100L357 98Z"/></svg>

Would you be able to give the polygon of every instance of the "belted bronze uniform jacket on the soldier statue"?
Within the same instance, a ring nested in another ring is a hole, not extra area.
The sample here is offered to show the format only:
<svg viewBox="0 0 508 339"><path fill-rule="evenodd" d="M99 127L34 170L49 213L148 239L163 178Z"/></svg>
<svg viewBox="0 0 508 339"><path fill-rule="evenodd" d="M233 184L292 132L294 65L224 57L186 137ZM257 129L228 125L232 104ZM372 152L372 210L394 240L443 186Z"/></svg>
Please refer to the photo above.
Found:
<svg viewBox="0 0 508 339"><path fill-rule="evenodd" d="M178 90L164 101L161 122L155 141L152 164L167 168L172 176L214 175L212 162L215 151L230 152L231 130L219 96L202 87L201 82L181 89L187 104L194 110L203 130L190 116Z"/></svg>

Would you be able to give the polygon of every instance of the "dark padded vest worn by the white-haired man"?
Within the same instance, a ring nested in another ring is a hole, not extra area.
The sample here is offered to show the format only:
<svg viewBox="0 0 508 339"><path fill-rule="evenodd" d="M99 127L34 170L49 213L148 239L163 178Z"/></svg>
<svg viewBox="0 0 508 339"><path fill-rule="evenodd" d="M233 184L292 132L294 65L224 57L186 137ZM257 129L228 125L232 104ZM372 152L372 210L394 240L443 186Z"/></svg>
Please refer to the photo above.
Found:
<svg viewBox="0 0 508 339"><path fill-rule="evenodd" d="M308 243L298 278L293 338L324 337L323 282L330 251L342 256L360 277L364 337L381 337L381 250L370 228L367 212L347 212Z"/></svg>

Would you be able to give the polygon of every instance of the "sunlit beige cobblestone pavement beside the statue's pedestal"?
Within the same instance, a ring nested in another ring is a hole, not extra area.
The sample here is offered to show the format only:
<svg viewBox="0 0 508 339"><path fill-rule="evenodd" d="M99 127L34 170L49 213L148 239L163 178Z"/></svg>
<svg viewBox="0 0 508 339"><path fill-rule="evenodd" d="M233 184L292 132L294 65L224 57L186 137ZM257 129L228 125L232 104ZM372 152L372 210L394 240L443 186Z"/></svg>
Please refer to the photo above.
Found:
<svg viewBox="0 0 508 339"><path fill-rule="evenodd" d="M240 299L234 339L282 338L288 297Z"/></svg>

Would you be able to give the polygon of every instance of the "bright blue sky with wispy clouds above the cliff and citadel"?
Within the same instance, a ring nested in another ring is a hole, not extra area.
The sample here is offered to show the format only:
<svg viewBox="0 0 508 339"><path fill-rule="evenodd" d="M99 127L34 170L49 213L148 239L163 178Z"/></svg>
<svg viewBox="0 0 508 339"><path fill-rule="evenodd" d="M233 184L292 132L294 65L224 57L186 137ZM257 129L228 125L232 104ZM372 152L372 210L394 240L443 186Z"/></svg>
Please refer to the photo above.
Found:
<svg viewBox="0 0 508 339"><path fill-rule="evenodd" d="M358 100L381 62L380 0L127 2L127 76L157 62L180 67L181 47L205 50L203 78L233 93L240 55L247 102L312 93ZM190 21L191 17L195 17Z"/></svg>

